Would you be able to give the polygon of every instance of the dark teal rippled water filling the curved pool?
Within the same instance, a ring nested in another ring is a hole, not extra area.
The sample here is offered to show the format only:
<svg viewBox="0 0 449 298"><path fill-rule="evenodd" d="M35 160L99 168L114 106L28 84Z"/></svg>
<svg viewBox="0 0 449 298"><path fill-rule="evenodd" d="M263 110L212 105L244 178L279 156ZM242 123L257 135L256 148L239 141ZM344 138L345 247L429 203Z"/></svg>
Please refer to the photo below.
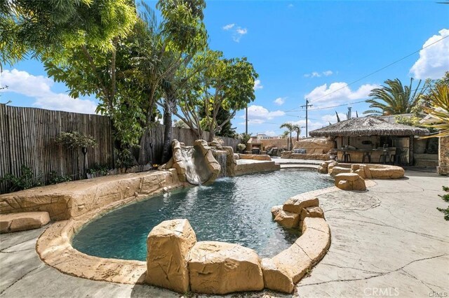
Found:
<svg viewBox="0 0 449 298"><path fill-rule="evenodd" d="M130 204L89 223L73 247L98 257L145 261L147 236L163 220L187 218L198 241L225 241L272 257L295 242L299 231L272 220L271 208L302 192L333 185L314 171L286 169L220 178Z"/></svg>

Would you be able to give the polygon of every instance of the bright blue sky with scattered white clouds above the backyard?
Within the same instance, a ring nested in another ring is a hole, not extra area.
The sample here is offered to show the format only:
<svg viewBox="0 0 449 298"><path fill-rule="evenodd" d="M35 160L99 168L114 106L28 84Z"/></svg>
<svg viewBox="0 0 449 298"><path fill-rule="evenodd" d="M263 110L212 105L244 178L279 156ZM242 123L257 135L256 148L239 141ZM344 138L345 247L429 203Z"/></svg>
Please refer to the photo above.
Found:
<svg viewBox="0 0 449 298"><path fill-rule="evenodd" d="M335 111L345 119L347 106L340 104L351 104L353 115L361 115L368 106L357 102L386 79L408 84L410 77L435 79L449 71L449 38L438 41L449 35L449 5L436 1L206 3L210 48L222 50L226 57L248 57L259 73L256 99L248 108L248 132L253 134L282 134L283 122L304 126L300 106L306 97L313 104L310 131L335 122ZM0 80L9 86L0 101L11 100L13 106L95 110L92 98L69 99L67 87L47 78L35 60L6 67ZM232 121L237 132L244 132L243 115L239 111Z"/></svg>

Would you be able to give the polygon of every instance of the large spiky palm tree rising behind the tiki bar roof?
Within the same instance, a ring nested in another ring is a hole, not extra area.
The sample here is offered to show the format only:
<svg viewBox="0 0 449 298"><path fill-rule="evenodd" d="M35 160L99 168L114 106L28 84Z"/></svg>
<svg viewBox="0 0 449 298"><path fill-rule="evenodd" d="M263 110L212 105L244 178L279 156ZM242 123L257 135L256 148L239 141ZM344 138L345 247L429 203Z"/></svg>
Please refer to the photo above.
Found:
<svg viewBox="0 0 449 298"><path fill-rule="evenodd" d="M413 106L427 87L427 83L424 83L424 87L420 90L420 80L415 90L412 90L413 78L410 78L410 85L408 86L402 85L398 78L386 80L384 83L385 85L382 85L382 87L371 90L368 94L371 98L366 100L370 104L370 108L377 108L377 110L368 110L363 114L398 115L411 113Z"/></svg>

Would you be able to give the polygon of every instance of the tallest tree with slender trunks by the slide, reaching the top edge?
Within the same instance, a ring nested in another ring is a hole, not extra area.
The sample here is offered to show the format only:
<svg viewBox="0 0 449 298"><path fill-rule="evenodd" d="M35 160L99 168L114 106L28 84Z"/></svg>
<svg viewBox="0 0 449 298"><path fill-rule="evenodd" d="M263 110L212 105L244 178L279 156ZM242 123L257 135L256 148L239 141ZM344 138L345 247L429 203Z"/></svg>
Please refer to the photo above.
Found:
<svg viewBox="0 0 449 298"><path fill-rule="evenodd" d="M157 24L151 9L142 2L144 8L142 20L152 36L152 41L138 57L138 71L142 82L147 89L144 129L152 125L153 110L156 101L164 108L164 124L166 134L163 145L163 161L168 159L171 142L171 114L175 106L177 89L182 87L182 80L175 80L175 74L180 67L185 67L195 53L206 47L207 33L203 24L203 9L206 3L203 0L177 1L161 0L156 7L163 17ZM147 134L140 139L143 148L147 143ZM140 151L139 162L143 162L143 150Z"/></svg>

